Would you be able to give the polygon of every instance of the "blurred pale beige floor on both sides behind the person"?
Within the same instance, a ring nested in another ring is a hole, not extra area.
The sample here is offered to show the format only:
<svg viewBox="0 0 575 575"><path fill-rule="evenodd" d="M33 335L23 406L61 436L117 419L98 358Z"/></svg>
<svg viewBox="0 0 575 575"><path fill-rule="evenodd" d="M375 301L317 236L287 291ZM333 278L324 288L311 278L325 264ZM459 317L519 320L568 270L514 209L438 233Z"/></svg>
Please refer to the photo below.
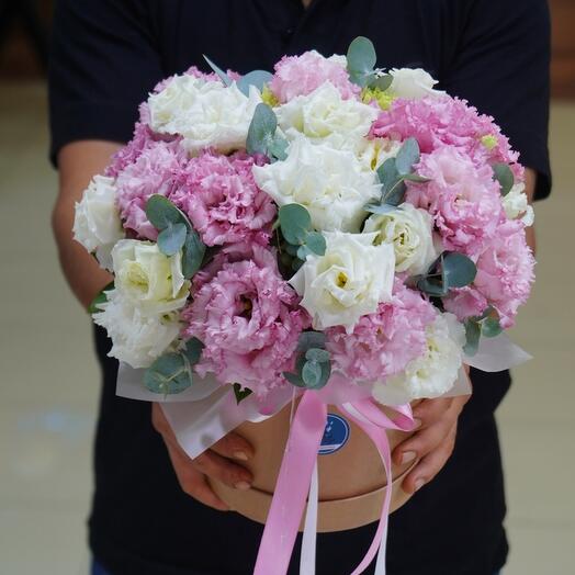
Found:
<svg viewBox="0 0 575 575"><path fill-rule="evenodd" d="M45 91L0 86L0 574L80 575L98 395L90 319L49 229ZM553 105L553 200L538 206L539 283L514 338L535 356L498 413L512 545L506 575L575 573L575 105ZM64 360L65 358L65 360Z"/></svg>

